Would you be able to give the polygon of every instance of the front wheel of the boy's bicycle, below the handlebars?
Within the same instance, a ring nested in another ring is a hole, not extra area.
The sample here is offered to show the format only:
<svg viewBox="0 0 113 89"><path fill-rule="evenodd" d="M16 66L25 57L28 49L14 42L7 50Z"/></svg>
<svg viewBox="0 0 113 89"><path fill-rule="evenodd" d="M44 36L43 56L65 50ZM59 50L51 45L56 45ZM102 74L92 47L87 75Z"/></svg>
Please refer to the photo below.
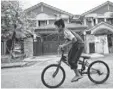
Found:
<svg viewBox="0 0 113 89"><path fill-rule="evenodd" d="M58 65L52 64L43 70L41 79L46 87L57 88L65 80L65 71L61 66L58 68Z"/></svg>

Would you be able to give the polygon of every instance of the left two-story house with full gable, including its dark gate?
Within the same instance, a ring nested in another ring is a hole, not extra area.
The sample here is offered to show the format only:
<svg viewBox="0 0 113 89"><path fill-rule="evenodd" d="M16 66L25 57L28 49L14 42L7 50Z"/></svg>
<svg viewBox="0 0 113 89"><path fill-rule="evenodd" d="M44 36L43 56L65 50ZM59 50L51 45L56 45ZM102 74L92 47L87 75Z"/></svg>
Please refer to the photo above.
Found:
<svg viewBox="0 0 113 89"><path fill-rule="evenodd" d="M78 19L79 16L74 16L43 2L26 9L25 13L28 21L32 23L31 26L35 33L41 38L34 42L34 55L57 53L58 45L63 42L63 37L59 36L55 30L54 22L57 19L62 18L67 28L80 34L87 28L87 26L81 25L80 21L77 21L76 24L71 23L72 17Z"/></svg>

